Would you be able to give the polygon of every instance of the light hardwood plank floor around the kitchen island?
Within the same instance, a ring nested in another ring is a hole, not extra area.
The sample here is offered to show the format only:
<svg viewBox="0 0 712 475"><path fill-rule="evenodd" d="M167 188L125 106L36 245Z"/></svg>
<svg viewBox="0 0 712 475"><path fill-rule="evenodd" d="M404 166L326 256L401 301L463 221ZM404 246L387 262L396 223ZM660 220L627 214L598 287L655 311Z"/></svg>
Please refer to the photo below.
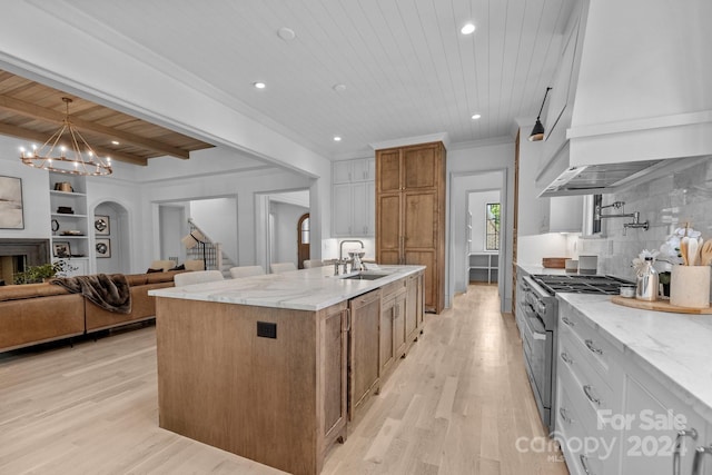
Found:
<svg viewBox="0 0 712 475"><path fill-rule="evenodd" d="M473 285L427 315L323 474L567 474L560 453L530 449L544 428L514 318L498 307L496 286ZM281 472L158 427L150 326L0 355L0 474L30 473Z"/></svg>

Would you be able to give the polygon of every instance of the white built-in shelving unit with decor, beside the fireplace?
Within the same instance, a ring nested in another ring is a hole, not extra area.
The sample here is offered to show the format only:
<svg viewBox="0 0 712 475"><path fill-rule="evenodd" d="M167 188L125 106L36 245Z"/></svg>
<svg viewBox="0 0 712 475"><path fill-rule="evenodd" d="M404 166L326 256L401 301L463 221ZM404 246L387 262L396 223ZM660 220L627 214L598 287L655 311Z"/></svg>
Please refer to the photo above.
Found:
<svg viewBox="0 0 712 475"><path fill-rule="evenodd" d="M49 174L52 260L65 261L65 275L90 273L89 219L83 177Z"/></svg>

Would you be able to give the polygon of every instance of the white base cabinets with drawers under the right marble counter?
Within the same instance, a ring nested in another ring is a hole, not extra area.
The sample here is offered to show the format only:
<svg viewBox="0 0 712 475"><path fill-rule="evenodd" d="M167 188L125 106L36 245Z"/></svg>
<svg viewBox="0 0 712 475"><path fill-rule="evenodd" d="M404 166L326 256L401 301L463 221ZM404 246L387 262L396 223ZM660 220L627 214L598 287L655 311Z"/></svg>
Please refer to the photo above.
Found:
<svg viewBox="0 0 712 475"><path fill-rule="evenodd" d="M691 474L710 420L560 300L555 436L571 474ZM675 454L679 454L676 456ZM701 474L712 475L712 455ZM675 461L680 471L673 471Z"/></svg>

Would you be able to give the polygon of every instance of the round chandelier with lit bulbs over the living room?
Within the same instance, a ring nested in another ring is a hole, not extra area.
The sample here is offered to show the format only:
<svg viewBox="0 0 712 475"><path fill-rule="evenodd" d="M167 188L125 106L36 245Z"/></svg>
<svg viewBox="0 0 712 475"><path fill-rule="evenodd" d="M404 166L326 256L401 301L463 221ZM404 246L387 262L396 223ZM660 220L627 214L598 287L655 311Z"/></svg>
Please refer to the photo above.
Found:
<svg viewBox="0 0 712 475"><path fill-rule="evenodd" d="M79 133L69 120L69 105L71 99L63 97L67 115L62 127L57 130L42 147L32 146L32 150L20 148L20 159L32 168L39 168L60 174L106 176L111 175L111 158L101 158L93 151L87 140ZM61 142L67 137L69 146ZM83 151L82 151L83 150Z"/></svg>

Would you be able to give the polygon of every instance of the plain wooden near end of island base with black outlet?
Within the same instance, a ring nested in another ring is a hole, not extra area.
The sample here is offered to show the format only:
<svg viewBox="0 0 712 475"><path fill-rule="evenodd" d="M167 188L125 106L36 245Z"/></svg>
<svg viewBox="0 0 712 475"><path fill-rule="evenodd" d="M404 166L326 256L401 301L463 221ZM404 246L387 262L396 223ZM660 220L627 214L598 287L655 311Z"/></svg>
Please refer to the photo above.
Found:
<svg viewBox="0 0 712 475"><path fill-rule="evenodd" d="M346 437L347 304L156 298L160 427L293 473Z"/></svg>

